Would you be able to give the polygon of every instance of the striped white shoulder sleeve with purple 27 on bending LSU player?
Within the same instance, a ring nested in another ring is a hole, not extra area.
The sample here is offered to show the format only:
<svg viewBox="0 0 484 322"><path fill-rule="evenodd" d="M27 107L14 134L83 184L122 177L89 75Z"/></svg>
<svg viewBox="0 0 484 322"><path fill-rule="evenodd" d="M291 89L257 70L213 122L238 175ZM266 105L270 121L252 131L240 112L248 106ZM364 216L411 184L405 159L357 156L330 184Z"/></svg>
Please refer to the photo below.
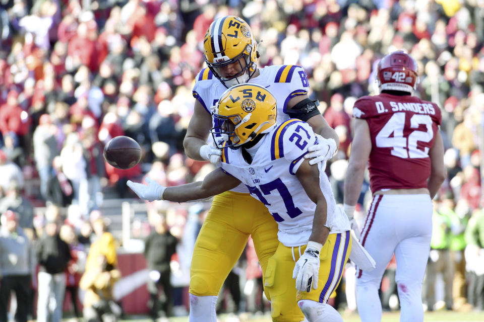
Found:
<svg viewBox="0 0 484 322"><path fill-rule="evenodd" d="M308 153L308 147L317 141L311 126L297 119L289 119L279 125L271 141L271 159L285 158L289 173L295 175Z"/></svg>

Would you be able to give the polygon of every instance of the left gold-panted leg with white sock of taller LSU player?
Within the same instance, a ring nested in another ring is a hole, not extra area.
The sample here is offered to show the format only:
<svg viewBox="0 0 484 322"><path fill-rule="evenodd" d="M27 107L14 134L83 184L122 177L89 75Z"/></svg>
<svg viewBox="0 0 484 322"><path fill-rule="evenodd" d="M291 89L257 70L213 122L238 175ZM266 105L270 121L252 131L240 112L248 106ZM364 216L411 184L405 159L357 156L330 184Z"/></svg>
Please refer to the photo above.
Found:
<svg viewBox="0 0 484 322"><path fill-rule="evenodd" d="M249 233L237 229L233 195L215 196L195 243L190 269L190 321L215 321L220 288L247 244Z"/></svg>

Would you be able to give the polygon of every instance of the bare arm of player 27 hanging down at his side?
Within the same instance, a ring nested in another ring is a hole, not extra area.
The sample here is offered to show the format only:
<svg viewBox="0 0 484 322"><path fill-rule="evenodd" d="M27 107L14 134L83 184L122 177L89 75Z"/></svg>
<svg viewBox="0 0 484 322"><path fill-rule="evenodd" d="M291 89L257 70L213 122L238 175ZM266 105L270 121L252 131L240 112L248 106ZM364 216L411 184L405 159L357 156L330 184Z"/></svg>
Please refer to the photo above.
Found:
<svg viewBox="0 0 484 322"><path fill-rule="evenodd" d="M306 191L308 197L316 204L313 230L309 240L324 245L329 235L329 228L325 226L328 215L328 205L319 185L318 165L311 166L308 160L304 160L296 171L296 177Z"/></svg>

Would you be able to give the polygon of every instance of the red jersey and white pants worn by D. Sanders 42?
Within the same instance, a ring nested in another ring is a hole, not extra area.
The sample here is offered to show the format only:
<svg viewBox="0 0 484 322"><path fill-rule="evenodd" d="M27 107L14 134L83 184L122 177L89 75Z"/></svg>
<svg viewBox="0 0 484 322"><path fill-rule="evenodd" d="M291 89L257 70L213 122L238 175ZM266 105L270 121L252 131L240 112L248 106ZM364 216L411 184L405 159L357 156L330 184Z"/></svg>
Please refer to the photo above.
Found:
<svg viewBox="0 0 484 322"><path fill-rule="evenodd" d="M413 96L382 93L358 99L355 118L368 122L373 193L390 189L427 188L429 150L442 120L439 107ZM370 205L360 242L376 261L373 271L356 271L356 300L361 320L381 320L378 289L395 254L400 321L423 319L421 284L432 236L429 194L378 194Z"/></svg>

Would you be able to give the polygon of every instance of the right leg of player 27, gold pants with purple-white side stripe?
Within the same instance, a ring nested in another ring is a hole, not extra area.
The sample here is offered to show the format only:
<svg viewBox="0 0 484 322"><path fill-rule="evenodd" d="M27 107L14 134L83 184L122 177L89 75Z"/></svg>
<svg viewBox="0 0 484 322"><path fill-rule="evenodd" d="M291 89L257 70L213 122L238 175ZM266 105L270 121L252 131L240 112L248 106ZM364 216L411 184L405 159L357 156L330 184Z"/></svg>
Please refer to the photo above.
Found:
<svg viewBox="0 0 484 322"><path fill-rule="evenodd" d="M350 252L351 235L349 231L328 236L320 252L318 288L311 289L310 292L297 292L296 296L297 304L307 321L339 322L343 320L338 311L327 302L341 281Z"/></svg>

